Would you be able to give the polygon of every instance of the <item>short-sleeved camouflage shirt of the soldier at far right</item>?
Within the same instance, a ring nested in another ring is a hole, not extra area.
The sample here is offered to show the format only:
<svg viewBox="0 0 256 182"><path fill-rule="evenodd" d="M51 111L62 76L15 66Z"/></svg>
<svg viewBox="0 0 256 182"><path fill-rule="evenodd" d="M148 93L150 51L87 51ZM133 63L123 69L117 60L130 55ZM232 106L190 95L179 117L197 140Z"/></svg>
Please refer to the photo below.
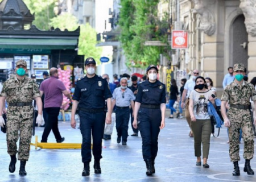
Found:
<svg viewBox="0 0 256 182"><path fill-rule="evenodd" d="M256 91L253 84L243 81L242 85L232 82L224 89L221 101L229 101L232 105L250 105L250 98L256 101Z"/></svg>

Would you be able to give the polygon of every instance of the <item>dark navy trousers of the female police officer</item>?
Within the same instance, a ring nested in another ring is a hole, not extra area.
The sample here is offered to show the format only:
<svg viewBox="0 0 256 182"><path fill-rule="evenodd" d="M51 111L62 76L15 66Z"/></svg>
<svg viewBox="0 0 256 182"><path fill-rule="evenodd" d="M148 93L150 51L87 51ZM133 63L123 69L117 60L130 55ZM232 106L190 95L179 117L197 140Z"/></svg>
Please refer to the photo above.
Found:
<svg viewBox="0 0 256 182"><path fill-rule="evenodd" d="M144 160L155 159L158 154L158 135L161 120L160 109L139 109L137 121L142 137L142 154Z"/></svg>

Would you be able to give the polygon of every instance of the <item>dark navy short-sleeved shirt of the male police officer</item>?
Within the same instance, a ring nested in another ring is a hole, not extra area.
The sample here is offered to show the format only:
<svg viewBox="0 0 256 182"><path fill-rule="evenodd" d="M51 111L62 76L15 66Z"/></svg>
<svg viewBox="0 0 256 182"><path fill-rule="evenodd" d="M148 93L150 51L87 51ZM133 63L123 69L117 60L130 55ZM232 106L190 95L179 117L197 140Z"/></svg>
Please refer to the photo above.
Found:
<svg viewBox="0 0 256 182"><path fill-rule="evenodd" d="M77 81L73 100L79 101L79 107L84 109L102 109L105 100L112 98L108 82L95 75L84 77Z"/></svg>

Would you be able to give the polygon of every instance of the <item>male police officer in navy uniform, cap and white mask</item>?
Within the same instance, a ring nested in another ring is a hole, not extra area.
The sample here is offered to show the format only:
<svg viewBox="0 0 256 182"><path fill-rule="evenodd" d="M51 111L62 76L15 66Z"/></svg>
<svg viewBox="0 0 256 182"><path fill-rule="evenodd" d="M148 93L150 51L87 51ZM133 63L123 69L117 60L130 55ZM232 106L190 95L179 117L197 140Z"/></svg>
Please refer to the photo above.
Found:
<svg viewBox="0 0 256 182"><path fill-rule="evenodd" d="M86 76L77 80L73 94L71 127L76 128L75 113L79 107L80 131L82 134L82 162L84 170L82 176L90 175L89 163L94 156L94 173L101 173L100 159L102 158L102 137L104 126L111 123L111 98L108 82L95 74L96 61L92 57L85 60ZM106 117L105 100L108 106ZM91 135L93 149L91 150Z"/></svg>

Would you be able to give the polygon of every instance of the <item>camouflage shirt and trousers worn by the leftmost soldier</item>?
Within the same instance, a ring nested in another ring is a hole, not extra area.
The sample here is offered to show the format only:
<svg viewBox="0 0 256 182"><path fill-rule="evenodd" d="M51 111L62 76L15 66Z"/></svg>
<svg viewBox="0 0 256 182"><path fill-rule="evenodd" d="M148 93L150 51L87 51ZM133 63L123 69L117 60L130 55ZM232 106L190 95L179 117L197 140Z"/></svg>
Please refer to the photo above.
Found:
<svg viewBox="0 0 256 182"><path fill-rule="evenodd" d="M18 160L28 160L30 155L30 142L32 137L33 107L32 100L40 97L38 85L34 80L24 77L18 80L15 77L9 78L3 84L0 97L6 97L9 103L31 102L30 106L9 106L7 109L6 140L7 152L16 155L16 142L19 139Z"/></svg>

